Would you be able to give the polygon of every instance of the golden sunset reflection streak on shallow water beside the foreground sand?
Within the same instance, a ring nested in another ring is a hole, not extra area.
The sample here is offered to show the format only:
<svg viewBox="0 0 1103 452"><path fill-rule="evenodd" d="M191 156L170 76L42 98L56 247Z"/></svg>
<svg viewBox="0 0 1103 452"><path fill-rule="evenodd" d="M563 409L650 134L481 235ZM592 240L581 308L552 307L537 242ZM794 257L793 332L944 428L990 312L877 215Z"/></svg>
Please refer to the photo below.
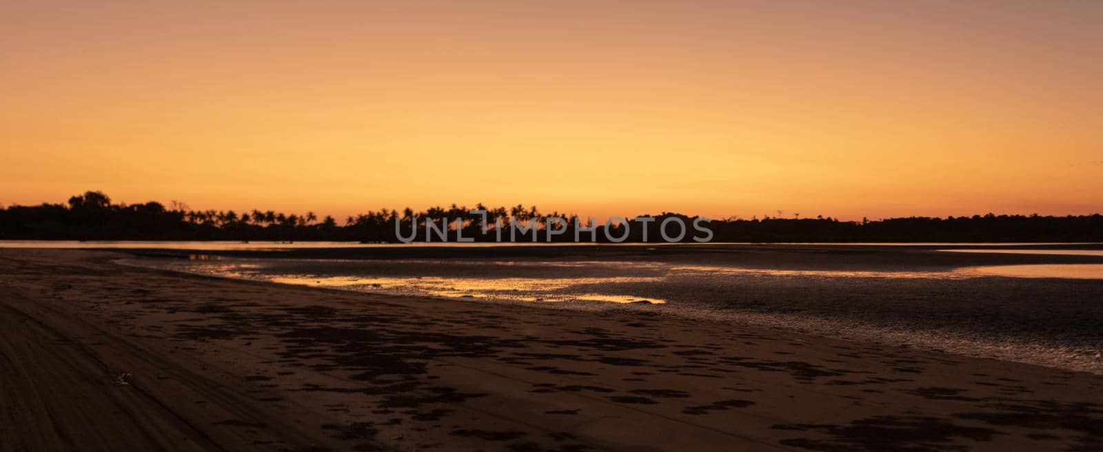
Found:
<svg viewBox="0 0 1103 452"><path fill-rule="evenodd" d="M782 269L751 269L737 267L717 266L693 266L672 265L665 262L610 262L610 261L554 261L554 262L531 262L531 261L495 261L486 268L494 269L491 273L497 273L497 278L488 277L480 271L479 276L472 276L470 267L456 267L449 262L425 262L418 261L419 266L428 266L431 272L440 275L440 271L461 273L457 276L416 276L420 267L413 268L415 275L399 273L399 276L350 276L355 272L373 272L379 269L371 268L341 268L344 276L308 273L308 269L315 263L321 263L328 270L332 270L333 265L342 265L342 261L299 261L292 266L287 262L274 265L270 261L248 260L248 259L225 259L217 256L195 254L190 257L191 262L172 262L176 266L183 263L189 271L203 275L221 276L229 278L243 278L253 280L264 280L279 283L290 283L299 286L313 286L324 288L335 288L356 291L373 291L399 295L439 297L453 299L486 299L524 302L601 302L601 303L651 303L663 304L666 299L649 298L633 294L632 292L652 294L653 287L664 282L676 282L679 284L694 283L704 284L738 284L739 278L854 278L854 279L971 279L986 277L1015 277L1015 278L1077 278L1077 279L1103 279L1103 265L1010 265L989 267L966 267L959 269L947 269L940 271L876 271L876 270L782 270ZM401 261L393 261L401 262ZM357 262L347 262L358 265ZM435 265L436 263L436 265ZM503 275L503 268L516 267L540 267L543 271L529 275L556 276L559 278L532 278L514 277ZM561 277L565 272L577 275L572 267L581 267L582 275L587 277ZM569 270L569 271L568 271ZM592 271L590 271L592 270ZM303 271L303 272L297 272ZM394 271L387 267L387 271ZM465 273L465 275L463 275ZM625 276L632 275L632 276ZM649 289L649 284L651 289Z"/></svg>

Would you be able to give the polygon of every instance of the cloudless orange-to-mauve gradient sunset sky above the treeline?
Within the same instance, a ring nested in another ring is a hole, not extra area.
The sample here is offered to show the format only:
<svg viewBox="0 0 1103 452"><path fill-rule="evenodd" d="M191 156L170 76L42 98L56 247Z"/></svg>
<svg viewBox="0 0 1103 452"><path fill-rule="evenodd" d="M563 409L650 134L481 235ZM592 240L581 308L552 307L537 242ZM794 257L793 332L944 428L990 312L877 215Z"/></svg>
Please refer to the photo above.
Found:
<svg viewBox="0 0 1103 452"><path fill-rule="evenodd" d="M1103 211L1103 1L0 3L0 203Z"/></svg>

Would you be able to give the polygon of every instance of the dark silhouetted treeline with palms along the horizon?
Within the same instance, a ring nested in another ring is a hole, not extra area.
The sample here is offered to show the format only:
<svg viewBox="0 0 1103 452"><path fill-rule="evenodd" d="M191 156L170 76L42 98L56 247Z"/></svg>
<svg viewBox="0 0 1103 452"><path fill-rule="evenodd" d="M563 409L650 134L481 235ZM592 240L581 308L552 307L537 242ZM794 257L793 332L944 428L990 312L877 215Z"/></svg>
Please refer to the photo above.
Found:
<svg viewBox="0 0 1103 452"><path fill-rule="evenodd" d="M488 212L489 232L484 235L481 215L472 215L469 209ZM0 209L0 239L77 239L77 240L336 240L386 243L398 241L395 222L399 232L409 236L417 230L416 241L426 241L426 222L441 219L449 222L448 240L456 240L454 219L462 218L462 235L475 241L494 241L497 232L494 225L504 225L502 240L511 240L510 219L518 223L536 220L538 240L546 241L546 228L563 230L553 217L567 218L569 224L564 234L554 236L554 241L575 240L575 216L558 212L543 214L535 206L524 207L432 207L425 212L406 208L403 212L381 209L350 216L339 222L326 216L318 218L313 213L285 214L272 211L191 211L186 206L172 203L170 207L157 202L144 204L111 204L100 192L87 192L73 196L66 204L42 204L38 206L9 206ZM693 241L693 237L705 234L694 229L694 219L681 214L664 213L645 216L654 218L647 224L649 240L664 241L658 235L658 225L665 218L679 217L686 225L682 241ZM585 219L581 222L587 226ZM552 224L552 226L548 226ZM625 234L628 243L643 241L643 224L613 225L612 237ZM971 217L908 217L880 220L842 222L835 218L752 218L714 219L704 224L714 234L711 241L750 243L917 243L917 241L1103 241L1103 216L1039 216L1039 215L975 215ZM675 224L667 226L670 236L677 236ZM516 241L533 241L533 233L518 234ZM598 225L595 241L609 241L606 230ZM591 241L590 233L580 234L582 241ZM440 241L436 234L432 241Z"/></svg>

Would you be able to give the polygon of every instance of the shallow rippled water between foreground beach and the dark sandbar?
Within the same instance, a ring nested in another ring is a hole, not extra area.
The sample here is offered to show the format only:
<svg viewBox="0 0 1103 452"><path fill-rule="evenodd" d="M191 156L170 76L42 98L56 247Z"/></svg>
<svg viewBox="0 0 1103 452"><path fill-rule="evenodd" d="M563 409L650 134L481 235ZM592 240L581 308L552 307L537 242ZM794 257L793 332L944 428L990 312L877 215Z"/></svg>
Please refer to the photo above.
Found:
<svg viewBox="0 0 1103 452"><path fill-rule="evenodd" d="M664 261L247 259L202 254L188 260L124 261L386 294L647 310L1103 373L1103 281L1047 276L1053 270L1091 273L1100 265L840 271ZM1006 273L1020 278L994 277Z"/></svg>

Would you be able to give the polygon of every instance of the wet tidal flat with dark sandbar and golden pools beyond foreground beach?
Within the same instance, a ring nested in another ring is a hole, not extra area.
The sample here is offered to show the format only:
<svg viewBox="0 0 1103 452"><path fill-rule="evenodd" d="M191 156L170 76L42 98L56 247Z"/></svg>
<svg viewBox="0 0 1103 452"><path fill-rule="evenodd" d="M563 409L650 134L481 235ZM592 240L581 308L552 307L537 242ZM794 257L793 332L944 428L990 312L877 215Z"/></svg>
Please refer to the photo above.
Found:
<svg viewBox="0 0 1103 452"><path fill-rule="evenodd" d="M396 245L138 250L152 256L125 261L393 295L646 310L1103 375L1103 303L1091 301L1103 300L1103 250L1020 248L975 247L983 252L966 254L899 245L511 245L457 252ZM1075 278L1003 276L1024 268ZM1068 275L1070 268L1083 271Z"/></svg>

